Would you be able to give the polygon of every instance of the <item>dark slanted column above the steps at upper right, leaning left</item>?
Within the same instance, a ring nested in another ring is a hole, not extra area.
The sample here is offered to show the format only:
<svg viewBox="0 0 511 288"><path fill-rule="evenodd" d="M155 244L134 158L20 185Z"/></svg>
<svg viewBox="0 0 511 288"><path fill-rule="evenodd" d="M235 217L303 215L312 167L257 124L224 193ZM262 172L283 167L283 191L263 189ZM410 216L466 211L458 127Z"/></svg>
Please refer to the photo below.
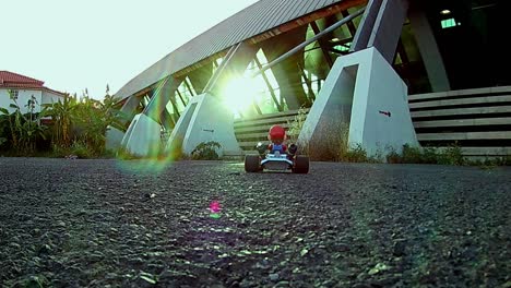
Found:
<svg viewBox="0 0 511 288"><path fill-rule="evenodd" d="M408 19L423 58L429 84L432 92L450 91L449 77L443 64L442 56L438 49L437 40L431 26L421 9L420 3L413 3L408 12Z"/></svg>

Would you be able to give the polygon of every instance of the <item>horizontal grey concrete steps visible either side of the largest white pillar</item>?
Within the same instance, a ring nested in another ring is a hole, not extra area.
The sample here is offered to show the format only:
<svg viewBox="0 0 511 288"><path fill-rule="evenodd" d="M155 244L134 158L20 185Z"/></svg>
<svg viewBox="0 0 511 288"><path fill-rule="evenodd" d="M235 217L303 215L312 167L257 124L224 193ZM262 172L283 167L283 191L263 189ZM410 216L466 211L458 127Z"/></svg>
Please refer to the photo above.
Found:
<svg viewBox="0 0 511 288"><path fill-rule="evenodd" d="M511 156L511 86L417 94L408 103L423 146L442 149L456 143L471 159ZM258 142L268 142L272 124L287 128L298 115L290 110L238 119L238 143L245 153L252 153Z"/></svg>

